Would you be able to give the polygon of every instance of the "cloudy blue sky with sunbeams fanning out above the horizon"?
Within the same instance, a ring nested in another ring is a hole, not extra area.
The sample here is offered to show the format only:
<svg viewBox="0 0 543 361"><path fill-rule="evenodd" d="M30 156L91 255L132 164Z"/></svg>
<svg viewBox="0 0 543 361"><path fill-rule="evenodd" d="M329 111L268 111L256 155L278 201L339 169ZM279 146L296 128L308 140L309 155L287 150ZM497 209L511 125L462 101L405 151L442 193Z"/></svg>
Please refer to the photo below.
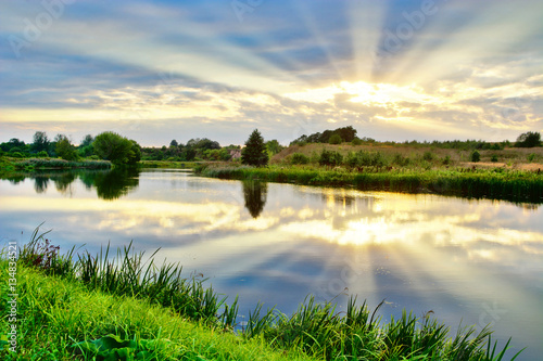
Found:
<svg viewBox="0 0 543 361"><path fill-rule="evenodd" d="M543 131L541 0L0 3L0 142Z"/></svg>

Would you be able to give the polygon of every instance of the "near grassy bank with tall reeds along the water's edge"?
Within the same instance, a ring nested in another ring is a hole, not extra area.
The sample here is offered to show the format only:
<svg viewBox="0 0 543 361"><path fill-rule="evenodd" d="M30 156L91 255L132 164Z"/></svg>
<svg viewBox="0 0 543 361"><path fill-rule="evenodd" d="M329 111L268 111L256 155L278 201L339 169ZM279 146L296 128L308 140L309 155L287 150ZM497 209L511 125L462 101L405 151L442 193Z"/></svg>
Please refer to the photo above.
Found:
<svg viewBox="0 0 543 361"><path fill-rule="evenodd" d="M380 306L370 311L355 298L341 313L313 297L292 315L257 305L235 332L236 301L182 279L179 266L155 267L129 247L116 257L109 248L61 255L43 235L36 229L18 258L1 253L0 327L17 334L16 353L12 336L0 335L2 360L498 361L509 344L496 350L487 327L450 337L430 314L382 322Z"/></svg>

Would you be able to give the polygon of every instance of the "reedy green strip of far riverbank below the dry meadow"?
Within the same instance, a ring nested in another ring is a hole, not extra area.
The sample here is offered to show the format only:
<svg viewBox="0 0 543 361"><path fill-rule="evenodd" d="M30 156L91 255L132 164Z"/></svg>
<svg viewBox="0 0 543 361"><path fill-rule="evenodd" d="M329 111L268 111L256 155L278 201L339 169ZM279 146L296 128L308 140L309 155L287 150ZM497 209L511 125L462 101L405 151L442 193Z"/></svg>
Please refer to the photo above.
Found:
<svg viewBox="0 0 543 361"><path fill-rule="evenodd" d="M281 166L255 168L206 164L195 168L205 177L262 180L324 186L352 186L363 191L435 193L472 198L543 203L543 175L503 168L376 169Z"/></svg>

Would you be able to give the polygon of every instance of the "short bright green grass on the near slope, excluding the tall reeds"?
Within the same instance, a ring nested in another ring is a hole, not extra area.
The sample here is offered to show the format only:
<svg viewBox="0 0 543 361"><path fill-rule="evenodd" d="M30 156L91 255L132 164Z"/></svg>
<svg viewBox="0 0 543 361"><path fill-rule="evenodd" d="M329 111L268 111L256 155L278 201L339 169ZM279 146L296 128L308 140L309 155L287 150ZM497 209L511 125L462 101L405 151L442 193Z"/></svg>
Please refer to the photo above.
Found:
<svg viewBox="0 0 543 361"><path fill-rule="evenodd" d="M0 261L2 295L8 294L7 269L7 261ZM17 268L17 353L4 348L1 360L135 360L138 356L157 361L311 360L300 352L283 354L258 339L187 321L147 300L89 291L85 284L46 276L27 267ZM7 306L4 296L1 314L8 313ZM0 327L8 330L5 318Z"/></svg>

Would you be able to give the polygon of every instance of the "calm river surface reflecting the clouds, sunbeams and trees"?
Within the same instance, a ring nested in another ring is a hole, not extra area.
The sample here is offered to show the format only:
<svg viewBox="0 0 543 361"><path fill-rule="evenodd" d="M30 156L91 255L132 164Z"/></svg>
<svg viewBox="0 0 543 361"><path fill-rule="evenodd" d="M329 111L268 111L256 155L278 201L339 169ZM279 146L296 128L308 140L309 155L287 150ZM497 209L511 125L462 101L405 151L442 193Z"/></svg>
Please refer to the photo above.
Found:
<svg viewBox="0 0 543 361"><path fill-rule="evenodd" d="M240 313L292 312L308 294L386 299L381 315L427 311L492 324L520 360L543 354L543 214L538 206L434 195L222 181L179 170L46 173L0 180L0 236L36 225L66 249L134 240L202 273ZM23 232L23 234L21 234ZM240 321L243 321L240 319Z"/></svg>

